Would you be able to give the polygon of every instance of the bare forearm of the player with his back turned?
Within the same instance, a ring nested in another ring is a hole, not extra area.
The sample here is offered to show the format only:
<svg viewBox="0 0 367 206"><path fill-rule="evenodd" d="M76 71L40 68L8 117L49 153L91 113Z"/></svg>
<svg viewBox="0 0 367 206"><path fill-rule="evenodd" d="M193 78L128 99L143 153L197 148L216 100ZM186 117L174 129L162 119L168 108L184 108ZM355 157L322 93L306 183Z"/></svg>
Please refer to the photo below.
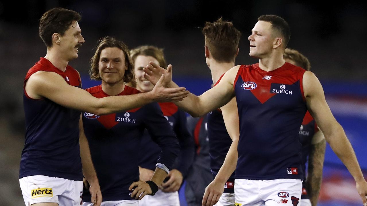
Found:
<svg viewBox="0 0 367 206"><path fill-rule="evenodd" d="M238 139L234 139L229 147L224 163L221 166L221 169L219 169L218 174L215 176L214 181L219 181L224 185L232 175L233 171L235 171L238 158L237 145Z"/></svg>

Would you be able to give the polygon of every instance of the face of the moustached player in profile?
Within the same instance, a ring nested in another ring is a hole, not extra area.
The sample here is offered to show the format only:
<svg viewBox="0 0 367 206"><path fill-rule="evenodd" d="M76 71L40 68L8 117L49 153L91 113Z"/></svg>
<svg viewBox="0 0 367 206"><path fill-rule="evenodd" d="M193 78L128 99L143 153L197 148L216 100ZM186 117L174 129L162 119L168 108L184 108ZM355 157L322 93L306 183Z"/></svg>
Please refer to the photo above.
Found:
<svg viewBox="0 0 367 206"><path fill-rule="evenodd" d="M76 59L78 57L79 47L84 43L78 22L73 21L69 29L65 31L64 35L59 36L59 38L60 53L64 55L67 61Z"/></svg>

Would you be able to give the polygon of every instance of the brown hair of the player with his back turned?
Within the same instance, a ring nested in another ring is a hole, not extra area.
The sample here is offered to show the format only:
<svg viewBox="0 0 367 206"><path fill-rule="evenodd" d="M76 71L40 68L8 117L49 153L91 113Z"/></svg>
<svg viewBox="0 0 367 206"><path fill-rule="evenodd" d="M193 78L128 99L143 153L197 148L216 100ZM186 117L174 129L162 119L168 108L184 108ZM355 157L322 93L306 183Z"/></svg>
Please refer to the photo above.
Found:
<svg viewBox="0 0 367 206"><path fill-rule="evenodd" d="M235 60L241 32L232 22L227 22L222 17L215 22L205 22L202 33L205 45L215 60L219 62Z"/></svg>

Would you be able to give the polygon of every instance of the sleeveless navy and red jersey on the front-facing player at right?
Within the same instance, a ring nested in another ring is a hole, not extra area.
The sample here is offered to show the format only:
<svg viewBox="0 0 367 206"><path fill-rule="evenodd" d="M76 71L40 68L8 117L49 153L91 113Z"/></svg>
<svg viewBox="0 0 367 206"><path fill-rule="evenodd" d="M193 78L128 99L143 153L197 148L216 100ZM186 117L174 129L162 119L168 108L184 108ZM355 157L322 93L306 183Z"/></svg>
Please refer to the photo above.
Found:
<svg viewBox="0 0 367 206"><path fill-rule="evenodd" d="M240 120L236 179L303 179L305 71L287 62L269 72L259 64L239 68L233 84Z"/></svg>

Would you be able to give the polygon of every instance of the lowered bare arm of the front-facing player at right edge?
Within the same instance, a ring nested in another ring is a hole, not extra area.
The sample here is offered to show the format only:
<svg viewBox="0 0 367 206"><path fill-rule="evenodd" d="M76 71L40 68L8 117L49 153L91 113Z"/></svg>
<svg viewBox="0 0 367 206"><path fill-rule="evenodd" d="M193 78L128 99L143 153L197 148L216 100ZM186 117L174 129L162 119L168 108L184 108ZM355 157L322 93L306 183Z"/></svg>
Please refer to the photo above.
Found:
<svg viewBox="0 0 367 206"><path fill-rule="evenodd" d="M357 191L363 203L367 205L367 183L364 180L352 145L350 145L343 128L331 114L330 108L325 100L323 88L312 72L305 72L303 76L303 87L308 111L315 118L321 131L323 131L331 149L333 149L355 179Z"/></svg>

